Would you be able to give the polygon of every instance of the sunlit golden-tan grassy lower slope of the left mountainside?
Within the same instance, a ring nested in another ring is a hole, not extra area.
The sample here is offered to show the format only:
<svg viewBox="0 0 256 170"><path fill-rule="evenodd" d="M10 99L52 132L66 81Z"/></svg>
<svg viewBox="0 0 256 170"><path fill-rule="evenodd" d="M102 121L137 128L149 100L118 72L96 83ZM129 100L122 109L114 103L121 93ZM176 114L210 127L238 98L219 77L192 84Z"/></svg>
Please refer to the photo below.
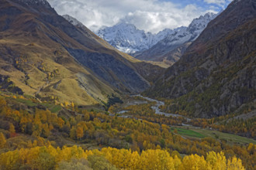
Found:
<svg viewBox="0 0 256 170"><path fill-rule="evenodd" d="M106 101L106 94L114 93L110 87L93 77L83 66L78 65L60 45L50 41L48 41L48 45L36 41L37 39L31 37L24 39L24 37L12 36L0 40L0 49L2 49L5 57L13 59L12 63L2 59L0 66L11 69L0 70L0 74L10 76L11 80L16 83L16 86L22 88L26 94L34 95L43 87L43 90L41 90L43 93L39 93L41 97L57 96L60 102L74 101L77 104L91 105L97 104L99 102L98 98ZM29 46L29 44L33 44L33 46ZM16 56L11 56L5 50L5 46L15 51ZM51 48L50 46L53 47ZM54 55L54 52L57 50L61 51L60 54ZM63 58L63 61L56 63L54 59L59 56ZM22 70L17 70L14 63L15 60L20 59L26 59L26 62L19 61L19 67ZM39 69L40 63L43 63L46 71ZM47 72L53 72L56 69L59 70L58 75L47 83ZM83 78L87 80L86 83L92 87L100 88L95 88L93 91L89 91L88 93L90 94L88 94L78 83L78 73L85 75ZM27 85L24 83L26 75L29 75ZM54 84L60 80L61 83L54 89ZM102 91L104 91L104 94L102 94Z"/></svg>

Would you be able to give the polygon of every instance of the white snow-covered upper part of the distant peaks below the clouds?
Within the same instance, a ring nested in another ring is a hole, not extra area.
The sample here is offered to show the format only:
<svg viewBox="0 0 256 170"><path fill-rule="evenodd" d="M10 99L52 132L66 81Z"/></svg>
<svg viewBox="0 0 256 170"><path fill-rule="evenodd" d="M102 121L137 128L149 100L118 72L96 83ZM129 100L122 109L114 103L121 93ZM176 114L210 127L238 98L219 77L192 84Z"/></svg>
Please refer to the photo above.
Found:
<svg viewBox="0 0 256 170"><path fill-rule="evenodd" d="M209 21L215 17L216 14L214 13L206 13L198 19L194 19L189 27L182 26L173 30L164 29L157 34L144 32L144 30L137 29L136 26L126 22L119 22L112 27L104 27L95 33L124 53L136 53L150 49L157 42L182 44L195 40L206 28Z"/></svg>

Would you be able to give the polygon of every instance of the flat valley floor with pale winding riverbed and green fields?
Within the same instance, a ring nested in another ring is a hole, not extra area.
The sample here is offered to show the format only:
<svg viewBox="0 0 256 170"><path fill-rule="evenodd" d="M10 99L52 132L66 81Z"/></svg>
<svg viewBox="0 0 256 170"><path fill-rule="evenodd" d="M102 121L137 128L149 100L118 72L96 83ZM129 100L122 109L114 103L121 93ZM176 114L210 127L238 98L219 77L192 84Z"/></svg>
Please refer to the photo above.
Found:
<svg viewBox="0 0 256 170"><path fill-rule="evenodd" d="M164 106L164 101L151 99L150 97L143 97L142 95L131 96L130 100L126 100L126 103L121 105L121 108L123 107L124 110L119 110L117 113L119 114L119 117L131 117L129 115L130 110L126 110L128 106L136 107L137 105L148 104L150 102L154 103L154 105L150 107L154 111L154 114L158 114L164 117L182 117L185 119L185 122L182 122L182 124L176 124L176 125L170 126L172 131L177 129L178 130L177 134L180 134L183 138L210 137L210 138L225 140L229 143L236 144L236 145L246 145L249 143L256 145L256 141L253 138L245 138L236 134L223 133L213 128L202 128L199 126L193 126L192 118L185 117L180 114L165 113L160 109L161 106Z"/></svg>

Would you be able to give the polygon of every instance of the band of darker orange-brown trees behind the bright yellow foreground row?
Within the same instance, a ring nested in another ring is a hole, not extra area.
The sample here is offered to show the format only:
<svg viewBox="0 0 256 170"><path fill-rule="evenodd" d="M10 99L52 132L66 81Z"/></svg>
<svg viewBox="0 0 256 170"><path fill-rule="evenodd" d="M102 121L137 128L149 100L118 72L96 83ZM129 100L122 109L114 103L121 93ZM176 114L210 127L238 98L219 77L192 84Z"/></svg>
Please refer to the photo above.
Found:
<svg viewBox="0 0 256 170"><path fill-rule="evenodd" d="M169 123L166 123L168 119L172 119L171 117L148 116L159 121L158 124L155 124L150 121L112 117L106 113L78 108L75 108L75 111L70 110L71 114L67 116L64 114L54 114L49 110L42 110L38 107L30 108L29 111L22 110L22 107L11 108L9 102L11 101L0 98L0 132L3 130L3 135L0 134L0 138L4 136L7 143L15 137L16 133L19 133L31 135L38 142L40 141L41 145L52 144L54 147L62 147L63 143L60 144L58 141L52 141L54 140L53 136L57 134L67 140L77 142L78 145L93 141L99 147L126 148L134 153L137 151L138 155L142 155L147 150L162 149L167 151L168 154L178 151L183 155L197 154L200 158L206 158L209 151L215 151L216 153L222 151L227 159L231 160L234 156L240 158L247 169L253 169L255 168L254 165L256 165L254 160L256 156L254 151L255 145L229 145L226 141L218 141L213 138L203 138L202 140L185 139L171 132L171 128L167 125ZM147 107L144 109L147 109ZM135 107L134 110L136 110ZM146 116L142 114L141 117ZM164 121L166 121L166 124L164 124ZM45 138L45 141L42 140L43 138ZM2 143L0 145L2 146ZM7 150L11 150L5 144L3 146ZM29 148L31 146L29 145ZM33 146L38 145L33 142ZM28 147L24 145L24 148ZM109 160L109 158L106 159ZM84 165L75 160L73 161L62 162L62 165ZM207 162L207 158L205 161ZM109 162L112 161L109 160ZM88 162L84 163L88 165ZM102 164L107 163L106 160L102 161ZM109 167L112 166L109 165ZM119 168L117 165L116 167Z"/></svg>

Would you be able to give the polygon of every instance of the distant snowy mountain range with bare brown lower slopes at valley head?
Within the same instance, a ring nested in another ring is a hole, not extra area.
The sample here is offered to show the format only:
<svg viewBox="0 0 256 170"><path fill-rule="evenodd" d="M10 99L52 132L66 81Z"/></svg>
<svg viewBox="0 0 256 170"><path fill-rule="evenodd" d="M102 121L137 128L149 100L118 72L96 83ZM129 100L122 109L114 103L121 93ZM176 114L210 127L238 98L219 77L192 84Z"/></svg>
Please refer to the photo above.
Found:
<svg viewBox="0 0 256 170"><path fill-rule="evenodd" d="M198 19L193 19L189 27L164 29L157 34L144 32L125 22L120 22L112 27L104 27L96 34L116 49L130 53L137 59L171 62L177 61L182 53L178 58L170 53L178 48L183 52L216 15L209 12L206 15L201 15Z"/></svg>

